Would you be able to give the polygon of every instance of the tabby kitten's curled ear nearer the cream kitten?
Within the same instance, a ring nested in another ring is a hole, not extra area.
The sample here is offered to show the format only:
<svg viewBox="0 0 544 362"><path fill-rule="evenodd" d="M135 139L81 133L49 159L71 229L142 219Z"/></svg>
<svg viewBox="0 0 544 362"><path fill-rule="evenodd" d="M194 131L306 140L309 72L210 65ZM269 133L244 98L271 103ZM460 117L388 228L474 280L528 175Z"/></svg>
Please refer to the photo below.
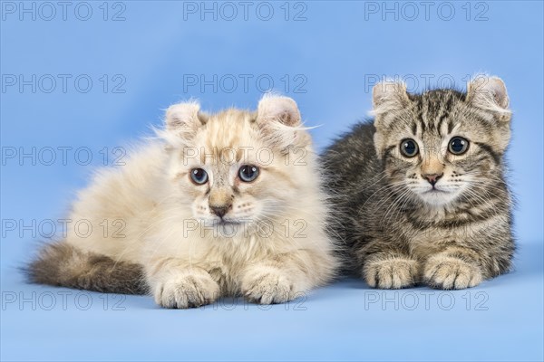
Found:
<svg viewBox="0 0 544 362"><path fill-rule="evenodd" d="M410 102L403 81L381 81L372 89L372 103L374 116L402 110Z"/></svg>

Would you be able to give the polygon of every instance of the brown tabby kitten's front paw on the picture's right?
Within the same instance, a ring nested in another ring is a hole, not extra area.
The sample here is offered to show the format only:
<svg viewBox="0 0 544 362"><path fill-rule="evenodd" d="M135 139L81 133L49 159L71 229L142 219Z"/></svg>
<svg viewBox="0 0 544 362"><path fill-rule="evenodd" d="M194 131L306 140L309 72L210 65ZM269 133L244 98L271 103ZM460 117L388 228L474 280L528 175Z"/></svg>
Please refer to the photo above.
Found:
<svg viewBox="0 0 544 362"><path fill-rule="evenodd" d="M481 283L481 270L452 256L435 255L425 264L424 280L437 289L464 289Z"/></svg>

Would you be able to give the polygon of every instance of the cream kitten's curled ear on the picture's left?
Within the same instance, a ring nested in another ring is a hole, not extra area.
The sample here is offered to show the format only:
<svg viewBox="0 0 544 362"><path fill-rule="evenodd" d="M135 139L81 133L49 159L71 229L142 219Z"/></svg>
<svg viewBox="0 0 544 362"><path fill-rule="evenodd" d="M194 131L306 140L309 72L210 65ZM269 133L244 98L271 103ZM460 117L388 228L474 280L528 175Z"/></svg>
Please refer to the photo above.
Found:
<svg viewBox="0 0 544 362"><path fill-rule="evenodd" d="M165 131L161 136L172 145L187 144L207 120L197 101L173 104L166 110Z"/></svg>

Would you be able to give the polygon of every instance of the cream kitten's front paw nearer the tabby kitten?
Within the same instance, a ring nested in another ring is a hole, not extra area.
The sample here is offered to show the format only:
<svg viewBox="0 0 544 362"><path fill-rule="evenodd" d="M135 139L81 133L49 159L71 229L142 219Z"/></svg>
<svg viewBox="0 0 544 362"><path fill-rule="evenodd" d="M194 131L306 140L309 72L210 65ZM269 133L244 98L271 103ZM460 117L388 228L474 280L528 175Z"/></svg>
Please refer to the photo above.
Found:
<svg viewBox="0 0 544 362"><path fill-rule="evenodd" d="M295 298L295 283L286 271L275 268L248 271L241 289L246 299L260 304L284 303Z"/></svg>

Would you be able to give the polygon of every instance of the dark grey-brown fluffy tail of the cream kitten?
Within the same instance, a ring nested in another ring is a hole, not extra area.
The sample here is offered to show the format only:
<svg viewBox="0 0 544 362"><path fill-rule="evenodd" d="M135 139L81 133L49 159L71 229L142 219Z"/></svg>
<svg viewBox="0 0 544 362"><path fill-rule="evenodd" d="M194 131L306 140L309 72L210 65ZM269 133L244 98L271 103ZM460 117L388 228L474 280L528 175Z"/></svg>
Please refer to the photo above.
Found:
<svg viewBox="0 0 544 362"><path fill-rule="evenodd" d="M148 291L141 265L115 262L68 243L46 245L25 271L29 281L40 284L104 293L146 294Z"/></svg>

